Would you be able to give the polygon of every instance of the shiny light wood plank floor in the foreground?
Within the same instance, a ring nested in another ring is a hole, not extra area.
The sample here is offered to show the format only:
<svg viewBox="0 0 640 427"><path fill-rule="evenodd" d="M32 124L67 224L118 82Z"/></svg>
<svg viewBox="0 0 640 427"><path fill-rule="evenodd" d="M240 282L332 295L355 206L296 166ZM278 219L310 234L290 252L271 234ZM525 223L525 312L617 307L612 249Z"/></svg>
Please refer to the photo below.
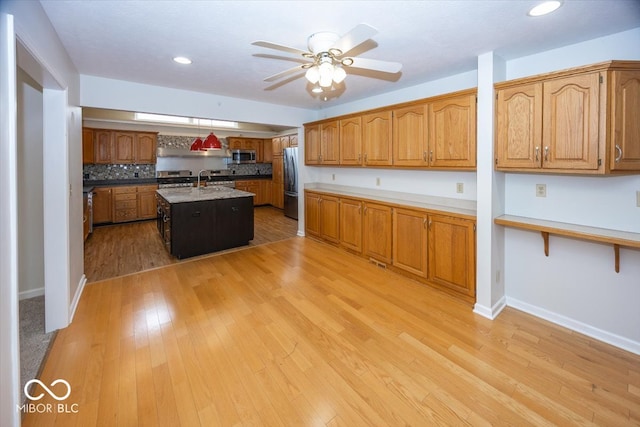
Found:
<svg viewBox="0 0 640 427"><path fill-rule="evenodd" d="M58 378L23 425L640 424L640 356L301 237L87 285Z"/></svg>

